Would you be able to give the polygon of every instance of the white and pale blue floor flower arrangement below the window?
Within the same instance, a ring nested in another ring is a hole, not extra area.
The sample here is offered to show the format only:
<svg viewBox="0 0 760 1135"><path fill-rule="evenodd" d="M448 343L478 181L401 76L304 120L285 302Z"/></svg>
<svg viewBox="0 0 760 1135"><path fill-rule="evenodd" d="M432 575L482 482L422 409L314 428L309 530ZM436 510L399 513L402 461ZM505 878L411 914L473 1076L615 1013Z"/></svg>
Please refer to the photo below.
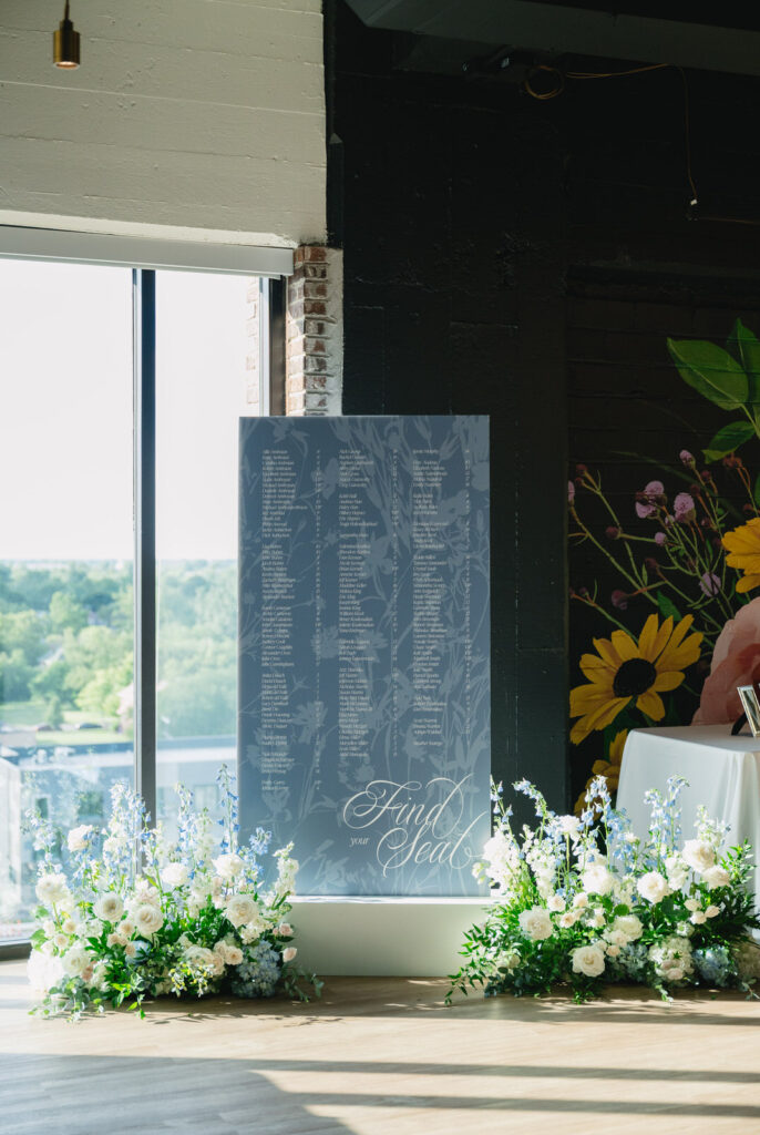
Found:
<svg viewBox="0 0 760 1135"><path fill-rule="evenodd" d="M226 766L218 783L221 835L193 794L177 785L177 838L149 826L140 797L126 784L111 790L111 817L99 831L68 833L68 874L54 860L52 825L28 816L41 855L28 975L41 994L35 1011L77 1018L172 993L271 997L284 990L307 1000L322 983L294 965L288 898L297 861L293 844L275 852L277 877L264 883L261 858L270 841L259 830L238 847L237 797ZM69 877L70 875L70 877Z"/></svg>

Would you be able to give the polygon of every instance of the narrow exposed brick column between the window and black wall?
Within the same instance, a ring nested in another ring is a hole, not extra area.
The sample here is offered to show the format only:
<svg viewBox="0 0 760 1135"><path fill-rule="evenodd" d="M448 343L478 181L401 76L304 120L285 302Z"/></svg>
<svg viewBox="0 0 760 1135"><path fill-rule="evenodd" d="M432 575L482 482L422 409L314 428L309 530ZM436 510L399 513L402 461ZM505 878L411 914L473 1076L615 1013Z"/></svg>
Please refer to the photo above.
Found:
<svg viewBox="0 0 760 1135"><path fill-rule="evenodd" d="M339 414L343 386L343 254L296 249L287 281L286 413Z"/></svg>

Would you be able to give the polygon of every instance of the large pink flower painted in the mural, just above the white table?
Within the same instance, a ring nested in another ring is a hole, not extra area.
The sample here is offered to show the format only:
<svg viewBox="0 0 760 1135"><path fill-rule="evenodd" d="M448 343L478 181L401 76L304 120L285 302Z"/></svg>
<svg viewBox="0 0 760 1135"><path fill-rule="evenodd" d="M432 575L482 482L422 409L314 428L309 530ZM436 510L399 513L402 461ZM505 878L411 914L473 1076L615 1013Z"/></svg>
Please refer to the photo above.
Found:
<svg viewBox="0 0 760 1135"><path fill-rule="evenodd" d="M693 724L736 721L742 713L736 687L755 682L760 682L760 598L742 607L720 631Z"/></svg>

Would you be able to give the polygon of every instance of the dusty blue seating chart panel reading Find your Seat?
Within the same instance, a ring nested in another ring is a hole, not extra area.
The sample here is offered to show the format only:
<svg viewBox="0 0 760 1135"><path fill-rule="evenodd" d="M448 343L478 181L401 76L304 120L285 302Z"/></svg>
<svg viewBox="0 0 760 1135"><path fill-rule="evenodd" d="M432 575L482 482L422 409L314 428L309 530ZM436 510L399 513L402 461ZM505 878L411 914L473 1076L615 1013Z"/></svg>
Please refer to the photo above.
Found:
<svg viewBox="0 0 760 1135"><path fill-rule="evenodd" d="M484 417L240 420L243 835L302 894L479 894Z"/></svg>

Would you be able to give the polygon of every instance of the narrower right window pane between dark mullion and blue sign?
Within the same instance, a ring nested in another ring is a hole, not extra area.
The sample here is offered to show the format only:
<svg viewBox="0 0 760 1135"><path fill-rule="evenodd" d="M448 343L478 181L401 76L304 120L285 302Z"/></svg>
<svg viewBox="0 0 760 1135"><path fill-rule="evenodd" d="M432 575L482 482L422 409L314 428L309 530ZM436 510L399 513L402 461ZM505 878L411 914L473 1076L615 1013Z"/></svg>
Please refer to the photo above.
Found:
<svg viewBox="0 0 760 1135"><path fill-rule="evenodd" d="M178 780L213 807L217 770L235 764L246 284L197 272L157 278L157 813L164 825Z"/></svg>

